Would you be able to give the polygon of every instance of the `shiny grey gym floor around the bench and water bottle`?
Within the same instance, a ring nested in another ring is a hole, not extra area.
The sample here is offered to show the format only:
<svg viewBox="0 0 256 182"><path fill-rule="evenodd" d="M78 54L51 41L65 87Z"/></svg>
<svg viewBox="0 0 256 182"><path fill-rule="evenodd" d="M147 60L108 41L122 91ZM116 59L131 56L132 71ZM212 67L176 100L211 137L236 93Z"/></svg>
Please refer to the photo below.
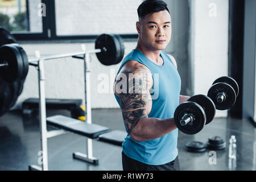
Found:
<svg viewBox="0 0 256 182"><path fill-rule="evenodd" d="M51 115L70 116L67 110L47 110ZM119 109L93 109L92 121L112 130L125 131ZM55 129L47 126L48 130ZM22 118L21 111L9 111L0 118L0 171L28 170L28 165L38 164L40 149L39 117L34 113ZM206 143L208 138L218 135L227 143L224 150L216 151L216 164L212 164L212 153L192 153L185 150L185 143L196 140ZM229 160L228 143L231 135L237 139L237 159ZM215 118L196 135L179 132L178 149L181 170L255 170L256 129L247 119ZM49 170L119 171L122 170L122 147L93 140L93 156L99 164L87 164L72 158L73 152L86 151L86 138L73 133L48 139Z"/></svg>

